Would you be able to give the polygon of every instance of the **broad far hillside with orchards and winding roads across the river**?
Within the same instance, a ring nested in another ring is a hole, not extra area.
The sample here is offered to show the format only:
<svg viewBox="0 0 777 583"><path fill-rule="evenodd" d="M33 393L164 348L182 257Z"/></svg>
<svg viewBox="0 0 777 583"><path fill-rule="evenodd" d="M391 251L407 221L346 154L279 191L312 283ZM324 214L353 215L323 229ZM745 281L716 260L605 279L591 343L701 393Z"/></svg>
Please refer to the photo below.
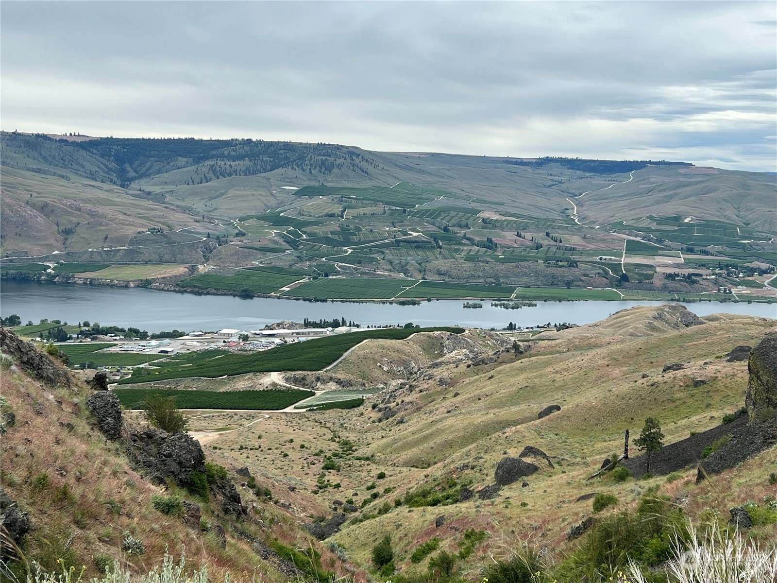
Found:
<svg viewBox="0 0 777 583"><path fill-rule="evenodd" d="M71 138L0 135L3 277L361 300L775 295L765 173ZM185 271L160 277L154 264ZM258 266L289 278L246 271Z"/></svg>

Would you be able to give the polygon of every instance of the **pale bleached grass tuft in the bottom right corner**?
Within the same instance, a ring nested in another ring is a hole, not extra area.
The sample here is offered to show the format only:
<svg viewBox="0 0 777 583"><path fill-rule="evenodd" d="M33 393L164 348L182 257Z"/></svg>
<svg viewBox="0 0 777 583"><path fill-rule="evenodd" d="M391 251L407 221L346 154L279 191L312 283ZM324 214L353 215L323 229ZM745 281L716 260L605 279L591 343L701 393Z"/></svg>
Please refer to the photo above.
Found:
<svg viewBox="0 0 777 583"><path fill-rule="evenodd" d="M667 581L677 583L773 583L777 581L777 549L764 550L739 532L710 526L699 532L688 522L688 543L674 540L674 559ZM647 583L639 565L629 563L634 583Z"/></svg>

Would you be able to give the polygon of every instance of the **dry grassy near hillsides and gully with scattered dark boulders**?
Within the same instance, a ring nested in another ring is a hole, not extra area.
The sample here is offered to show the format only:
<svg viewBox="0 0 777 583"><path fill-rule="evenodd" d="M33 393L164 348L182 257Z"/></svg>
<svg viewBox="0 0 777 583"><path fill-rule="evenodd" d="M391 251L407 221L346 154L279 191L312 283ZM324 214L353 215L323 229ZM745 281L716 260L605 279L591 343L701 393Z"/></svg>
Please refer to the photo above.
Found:
<svg viewBox="0 0 777 583"><path fill-rule="evenodd" d="M12 552L49 567L66 555L92 573L92 557L118 558L137 573L165 545L176 554L185 544L191 566L239 581L330 571L452 582L518 569L515 553L528 548L541 581L604 581L626 556L666 581L671 537L686 520L731 516L775 547L775 334L773 319L699 318L674 304L539 333L368 337L326 370L136 385L316 393L280 411L186 411L200 449L146 429L138 411L117 424L104 376L87 385L92 373L68 372L3 330L2 484L35 527ZM317 408L327 393L362 399ZM647 461L634 442L649 417L664 448ZM629 459L616 463L626 430ZM193 457L149 462L169 459L153 452L172 442ZM202 484L192 478L200 464ZM179 518L160 511L176 506L171 495L186 508ZM190 518L191 503L202 520ZM615 524L628 543L606 538ZM386 535L391 557L381 562ZM127 536L144 555L122 550ZM298 560L307 563L295 574Z"/></svg>

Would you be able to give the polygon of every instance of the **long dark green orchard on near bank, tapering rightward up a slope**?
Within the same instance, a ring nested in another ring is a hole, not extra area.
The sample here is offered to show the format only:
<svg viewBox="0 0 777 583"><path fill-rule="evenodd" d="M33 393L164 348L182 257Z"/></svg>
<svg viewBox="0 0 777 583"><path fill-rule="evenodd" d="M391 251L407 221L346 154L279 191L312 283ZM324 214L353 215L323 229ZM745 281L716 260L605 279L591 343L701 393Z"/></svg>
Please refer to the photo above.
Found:
<svg viewBox="0 0 777 583"><path fill-rule="evenodd" d="M168 366L160 368L136 368L128 379L120 384L152 382L168 379L204 377L214 379L219 376L242 375L246 372L289 372L319 371L333 364L347 350L363 340L373 338L384 340L403 340L411 334L442 330L462 333L461 328L382 328L338 334L332 337L315 338L305 342L295 342L268 351L253 354L225 354L224 351L197 351L170 358Z"/></svg>

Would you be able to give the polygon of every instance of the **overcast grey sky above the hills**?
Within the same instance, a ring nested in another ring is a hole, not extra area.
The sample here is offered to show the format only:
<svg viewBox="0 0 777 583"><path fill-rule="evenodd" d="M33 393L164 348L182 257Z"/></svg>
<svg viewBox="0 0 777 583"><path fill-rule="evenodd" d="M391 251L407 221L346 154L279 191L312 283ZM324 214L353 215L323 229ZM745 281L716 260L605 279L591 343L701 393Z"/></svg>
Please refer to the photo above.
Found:
<svg viewBox="0 0 777 583"><path fill-rule="evenodd" d="M775 2L0 2L2 129L777 170Z"/></svg>

